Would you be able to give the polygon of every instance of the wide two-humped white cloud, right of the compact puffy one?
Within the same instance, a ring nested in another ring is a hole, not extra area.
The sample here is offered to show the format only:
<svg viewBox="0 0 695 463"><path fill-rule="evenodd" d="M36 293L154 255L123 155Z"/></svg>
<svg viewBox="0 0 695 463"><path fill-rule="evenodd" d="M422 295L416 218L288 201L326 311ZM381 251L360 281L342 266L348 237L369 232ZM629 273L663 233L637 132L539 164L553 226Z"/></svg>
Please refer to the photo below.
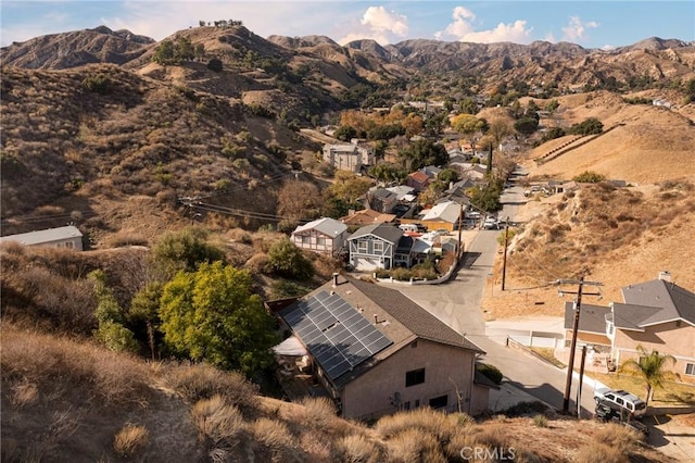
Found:
<svg viewBox="0 0 695 463"><path fill-rule="evenodd" d="M443 32L438 32L434 37L444 39L445 37L456 37L459 41L471 41L478 43L493 43L500 41L511 41L515 43L528 43L531 41L532 27L527 28L527 22L517 20L514 23L500 23L492 29L476 30L476 15L472 11L456 7L452 12L453 23L450 23Z"/></svg>

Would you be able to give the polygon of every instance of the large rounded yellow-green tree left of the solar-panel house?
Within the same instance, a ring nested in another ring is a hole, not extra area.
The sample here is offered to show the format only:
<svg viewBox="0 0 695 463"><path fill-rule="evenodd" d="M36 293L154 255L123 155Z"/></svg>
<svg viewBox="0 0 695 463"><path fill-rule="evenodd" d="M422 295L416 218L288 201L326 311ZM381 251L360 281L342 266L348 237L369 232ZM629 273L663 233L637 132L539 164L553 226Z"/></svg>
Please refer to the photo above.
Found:
<svg viewBox="0 0 695 463"><path fill-rule="evenodd" d="M273 362L275 321L249 272L222 262L179 272L162 293L164 341L177 354L252 375Z"/></svg>

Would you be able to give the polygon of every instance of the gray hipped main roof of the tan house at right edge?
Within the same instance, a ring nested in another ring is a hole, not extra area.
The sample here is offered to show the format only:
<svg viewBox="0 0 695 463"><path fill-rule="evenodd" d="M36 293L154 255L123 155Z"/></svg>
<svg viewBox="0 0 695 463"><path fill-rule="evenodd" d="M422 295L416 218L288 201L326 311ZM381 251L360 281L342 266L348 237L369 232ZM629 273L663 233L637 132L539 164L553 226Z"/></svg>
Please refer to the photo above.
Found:
<svg viewBox="0 0 695 463"><path fill-rule="evenodd" d="M626 313L626 317L640 327L683 320L695 325L695 293L672 281L653 279L622 288L626 305L657 308L658 311L642 317Z"/></svg>

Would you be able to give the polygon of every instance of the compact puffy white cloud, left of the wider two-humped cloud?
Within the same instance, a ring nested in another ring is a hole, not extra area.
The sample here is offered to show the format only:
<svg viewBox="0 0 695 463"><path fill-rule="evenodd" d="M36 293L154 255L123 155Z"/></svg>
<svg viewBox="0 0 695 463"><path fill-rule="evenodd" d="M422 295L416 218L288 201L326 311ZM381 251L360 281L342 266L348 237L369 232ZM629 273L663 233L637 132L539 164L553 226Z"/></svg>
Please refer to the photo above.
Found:
<svg viewBox="0 0 695 463"><path fill-rule="evenodd" d="M353 24L350 32L337 41L345 45L353 40L372 39L380 45L387 45L394 39L406 37L408 30L407 16L383 7L369 7L359 20L359 24Z"/></svg>

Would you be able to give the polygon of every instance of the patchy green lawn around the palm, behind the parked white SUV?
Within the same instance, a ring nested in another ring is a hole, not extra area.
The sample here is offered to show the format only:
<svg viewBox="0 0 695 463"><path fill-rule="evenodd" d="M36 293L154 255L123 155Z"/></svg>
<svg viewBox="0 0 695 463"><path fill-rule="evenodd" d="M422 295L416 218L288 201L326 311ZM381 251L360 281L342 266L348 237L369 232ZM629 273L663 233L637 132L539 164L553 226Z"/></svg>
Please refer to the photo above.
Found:
<svg viewBox="0 0 695 463"><path fill-rule="evenodd" d="M586 372L586 376L598 379L612 389L623 389L643 399L646 396L646 386L641 378L628 374L604 374ZM665 383L662 389L654 391L654 399L649 405L695 405L695 386L682 383Z"/></svg>

